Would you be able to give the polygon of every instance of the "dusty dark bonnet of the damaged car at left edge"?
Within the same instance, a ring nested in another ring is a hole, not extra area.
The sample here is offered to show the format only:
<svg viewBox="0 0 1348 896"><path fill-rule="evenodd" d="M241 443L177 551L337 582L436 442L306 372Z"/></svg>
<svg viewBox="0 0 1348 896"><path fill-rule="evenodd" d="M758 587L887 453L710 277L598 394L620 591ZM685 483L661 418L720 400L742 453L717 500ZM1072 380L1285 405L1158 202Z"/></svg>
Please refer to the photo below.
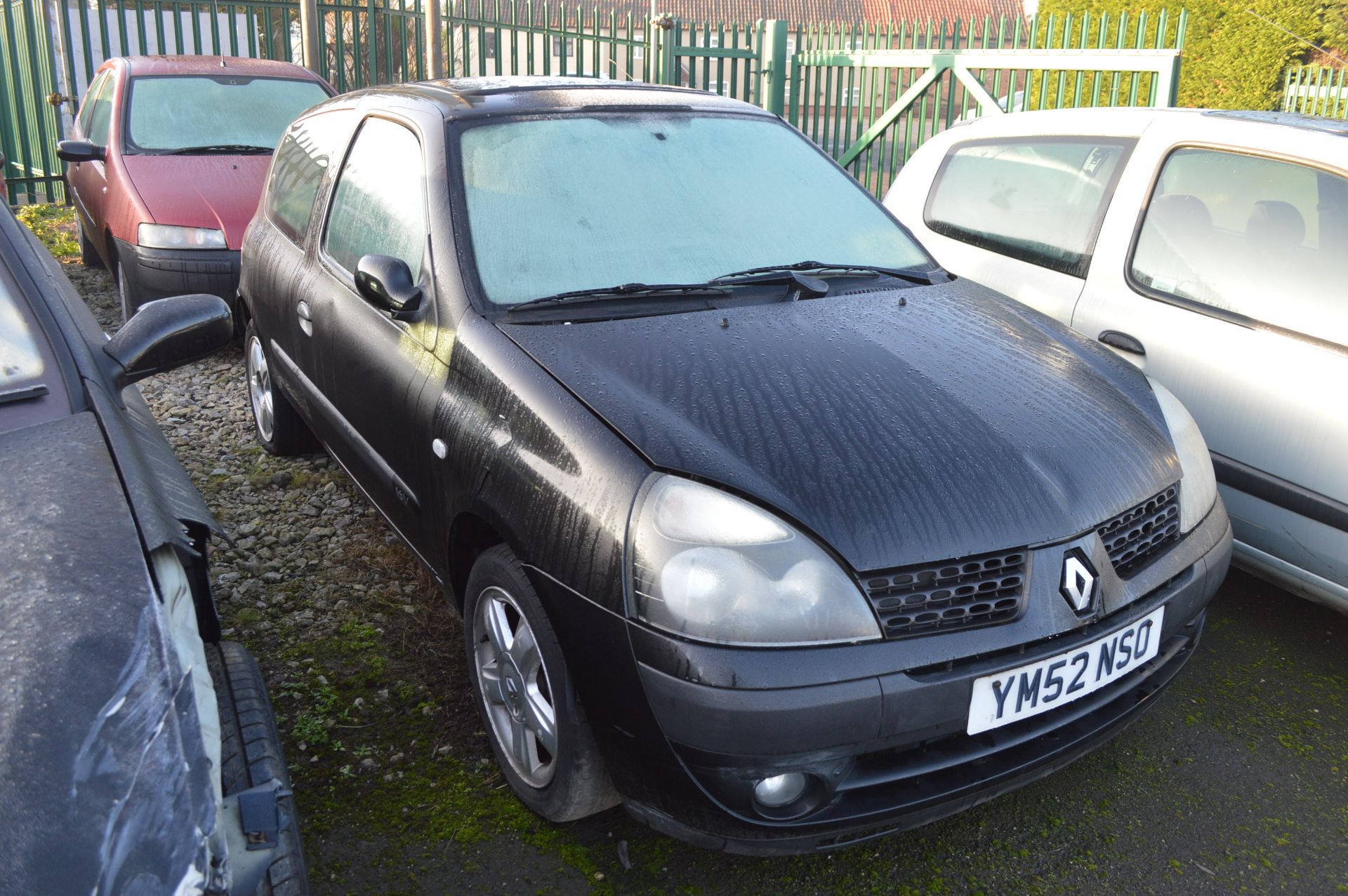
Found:
<svg viewBox="0 0 1348 896"><path fill-rule="evenodd" d="M0 892L174 892L210 763L98 422L0 435Z"/></svg>

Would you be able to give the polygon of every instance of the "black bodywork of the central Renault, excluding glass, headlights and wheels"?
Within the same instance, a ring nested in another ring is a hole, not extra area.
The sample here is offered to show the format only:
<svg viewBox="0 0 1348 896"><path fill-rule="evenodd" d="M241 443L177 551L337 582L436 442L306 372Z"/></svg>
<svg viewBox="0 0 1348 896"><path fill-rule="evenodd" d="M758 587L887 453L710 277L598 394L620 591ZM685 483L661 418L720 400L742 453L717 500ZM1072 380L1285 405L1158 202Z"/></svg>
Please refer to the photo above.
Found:
<svg viewBox="0 0 1348 896"><path fill-rule="evenodd" d="M1020 546L1042 546L1053 562L1050 546L1076 542L1107 565L1095 528L1178 480L1178 461L1144 377L1049 318L965 282L570 325L483 317L470 300L470 256L456 244L448 135L460 119L593 106L766 115L698 92L593 82L520 89L511 79L472 79L337 97L313 113L349 116L346 135L364 116L391 115L422 141L427 303L410 321L353 311L349 303L361 299L325 267L318 247L338 174L330 164L298 244L267 220L263 201L243 247L244 313L257 323L274 383L446 590L462 600L476 550L504 542L520 558L605 765L635 814L710 846L789 835L728 815L685 757L692 749L747 775L745 767L795 761L790 749L801 744L783 740L771 755L740 749L733 759L710 755L710 740L674 744L670 732L696 740L697 726L662 725L642 666L697 694L758 691L763 705L771 689L853 682L849 689L880 701L872 711L888 714L886 737L898 742L915 736L905 717L948 725L949 706L941 706L969 687L957 674L937 690L906 689L903 670L1081 637L1092 620L1060 608L1054 583L1039 590L1057 604L1037 596L1012 625L906 641L755 651L655 632L625 612L627 527L652 470L736 490L860 573ZM326 150L336 159L349 136L334 140ZM309 305L311 333L298 326L299 302ZM359 323L353 314L363 314ZM338 410L342 391L365 404L355 415L360 428ZM443 459L430 450L437 438ZM375 447L381 439L387 453ZM399 499L391 476L411 489L415 507ZM1139 600L1182 590L1167 627L1189 644L1178 632L1201 620L1228 556L1219 503L1201 532L1147 570L1126 582L1105 570L1101 612L1131 612ZM682 701L673 711L698 713ZM669 719L670 702L659 711ZM1113 713L1080 749L1134 715ZM756 724L787 721L767 713ZM941 812L1046 773L1064 756L1023 757L1018 772L980 796L941 803ZM980 784L976 771L965 779Z"/></svg>

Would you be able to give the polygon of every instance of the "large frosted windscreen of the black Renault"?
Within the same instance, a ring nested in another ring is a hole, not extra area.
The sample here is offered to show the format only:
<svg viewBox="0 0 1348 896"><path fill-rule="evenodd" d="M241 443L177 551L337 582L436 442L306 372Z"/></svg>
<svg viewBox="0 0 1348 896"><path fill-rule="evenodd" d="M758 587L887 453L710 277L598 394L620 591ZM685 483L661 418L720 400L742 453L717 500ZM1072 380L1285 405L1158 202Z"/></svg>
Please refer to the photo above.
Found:
<svg viewBox="0 0 1348 896"><path fill-rule="evenodd" d="M469 128L460 147L477 274L497 305L806 259L930 264L855 181L770 119L528 119Z"/></svg>

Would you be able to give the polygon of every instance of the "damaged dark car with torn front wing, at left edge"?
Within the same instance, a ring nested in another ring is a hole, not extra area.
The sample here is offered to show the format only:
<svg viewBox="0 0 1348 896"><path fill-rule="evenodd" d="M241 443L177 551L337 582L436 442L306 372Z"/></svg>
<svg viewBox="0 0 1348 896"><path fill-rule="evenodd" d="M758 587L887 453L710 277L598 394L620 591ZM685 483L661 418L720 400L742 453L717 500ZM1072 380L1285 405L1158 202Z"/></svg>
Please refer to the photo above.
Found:
<svg viewBox="0 0 1348 896"><path fill-rule="evenodd" d="M0 210L0 891L303 896L257 666L220 640L218 528L132 385L232 331L213 295L108 340Z"/></svg>

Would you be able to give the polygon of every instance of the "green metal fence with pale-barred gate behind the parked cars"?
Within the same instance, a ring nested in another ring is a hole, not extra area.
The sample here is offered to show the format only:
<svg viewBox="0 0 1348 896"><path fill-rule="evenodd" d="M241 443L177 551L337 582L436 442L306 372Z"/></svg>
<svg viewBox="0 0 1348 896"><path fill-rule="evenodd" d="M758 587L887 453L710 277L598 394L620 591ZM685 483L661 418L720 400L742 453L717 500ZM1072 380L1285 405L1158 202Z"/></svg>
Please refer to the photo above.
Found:
<svg viewBox="0 0 1348 896"><path fill-rule="evenodd" d="M693 23L652 19L644 4L621 5L630 1L46 0L58 11L49 27L59 61L47 69L62 75L71 96L82 94L102 59L131 53L307 62L338 90L433 74L679 85L780 113L883 193L926 139L969 117L1173 104L1185 32L1182 11L972 23ZM16 36L18 26L9 24L40 22L32 8L42 3L0 0L7 54L0 78L43 71L23 55L24 40L35 38ZM439 22L438 40L431 22ZM438 47L438 58L427 46ZM11 106L0 137L11 159L27 147L36 162L18 163L23 170L11 164L7 174L55 190L61 167L51 148L61 119L40 100L51 78L28 77L31 84L5 90ZM74 110L70 102L65 115ZM20 152L11 154L11 146Z"/></svg>

